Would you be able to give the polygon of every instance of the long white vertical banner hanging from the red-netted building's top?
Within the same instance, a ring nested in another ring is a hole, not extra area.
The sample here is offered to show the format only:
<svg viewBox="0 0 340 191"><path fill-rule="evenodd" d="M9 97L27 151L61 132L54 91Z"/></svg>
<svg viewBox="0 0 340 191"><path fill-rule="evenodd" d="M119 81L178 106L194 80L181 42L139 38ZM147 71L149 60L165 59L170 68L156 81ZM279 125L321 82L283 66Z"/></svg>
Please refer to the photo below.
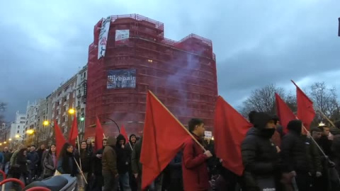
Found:
<svg viewBox="0 0 340 191"><path fill-rule="evenodd" d="M103 18L101 23L101 33L99 33L98 59L105 57L106 43L108 42L108 30L110 30L111 16Z"/></svg>

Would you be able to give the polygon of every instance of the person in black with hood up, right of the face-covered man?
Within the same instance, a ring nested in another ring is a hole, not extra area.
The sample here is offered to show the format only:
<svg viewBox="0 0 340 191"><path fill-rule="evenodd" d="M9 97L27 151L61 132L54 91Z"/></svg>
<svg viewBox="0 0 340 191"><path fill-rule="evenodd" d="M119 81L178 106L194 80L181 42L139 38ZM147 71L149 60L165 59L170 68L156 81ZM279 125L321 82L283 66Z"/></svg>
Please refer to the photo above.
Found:
<svg viewBox="0 0 340 191"><path fill-rule="evenodd" d="M281 143L281 156L286 173L291 173L300 191L310 190L310 161L307 157L307 146L302 137L302 122L292 120L288 123L288 134Z"/></svg>

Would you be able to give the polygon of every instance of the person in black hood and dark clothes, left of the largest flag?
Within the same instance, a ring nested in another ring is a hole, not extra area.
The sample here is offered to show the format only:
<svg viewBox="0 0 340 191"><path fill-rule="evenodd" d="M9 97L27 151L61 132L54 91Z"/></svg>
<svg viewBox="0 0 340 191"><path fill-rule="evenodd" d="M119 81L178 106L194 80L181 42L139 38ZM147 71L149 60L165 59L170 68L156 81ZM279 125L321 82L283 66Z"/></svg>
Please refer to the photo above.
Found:
<svg viewBox="0 0 340 191"><path fill-rule="evenodd" d="M117 168L119 174L120 190L131 191L129 178L129 150L127 147L125 147L125 138L122 134L119 134L117 137L115 152L117 154Z"/></svg>

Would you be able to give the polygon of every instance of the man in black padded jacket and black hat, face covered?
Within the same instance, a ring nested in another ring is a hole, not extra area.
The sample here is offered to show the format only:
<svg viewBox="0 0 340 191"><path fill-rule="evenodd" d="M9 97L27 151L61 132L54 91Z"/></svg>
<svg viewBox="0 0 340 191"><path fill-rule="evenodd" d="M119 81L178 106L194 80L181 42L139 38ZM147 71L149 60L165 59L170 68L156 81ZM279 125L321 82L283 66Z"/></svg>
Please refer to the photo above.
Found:
<svg viewBox="0 0 340 191"><path fill-rule="evenodd" d="M280 160L271 137L276 131L276 122L264 112L253 116L251 128L242 142L242 161L246 190L276 189L280 185Z"/></svg>

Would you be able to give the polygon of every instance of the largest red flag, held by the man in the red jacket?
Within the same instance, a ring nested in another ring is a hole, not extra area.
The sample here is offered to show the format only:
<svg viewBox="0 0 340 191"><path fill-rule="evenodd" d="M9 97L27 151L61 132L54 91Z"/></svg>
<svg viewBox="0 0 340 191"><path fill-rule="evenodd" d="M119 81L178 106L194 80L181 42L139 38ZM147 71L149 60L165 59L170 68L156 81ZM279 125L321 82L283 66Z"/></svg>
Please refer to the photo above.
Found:
<svg viewBox="0 0 340 191"><path fill-rule="evenodd" d="M140 154L142 190L162 173L188 137L186 129L149 91Z"/></svg>

